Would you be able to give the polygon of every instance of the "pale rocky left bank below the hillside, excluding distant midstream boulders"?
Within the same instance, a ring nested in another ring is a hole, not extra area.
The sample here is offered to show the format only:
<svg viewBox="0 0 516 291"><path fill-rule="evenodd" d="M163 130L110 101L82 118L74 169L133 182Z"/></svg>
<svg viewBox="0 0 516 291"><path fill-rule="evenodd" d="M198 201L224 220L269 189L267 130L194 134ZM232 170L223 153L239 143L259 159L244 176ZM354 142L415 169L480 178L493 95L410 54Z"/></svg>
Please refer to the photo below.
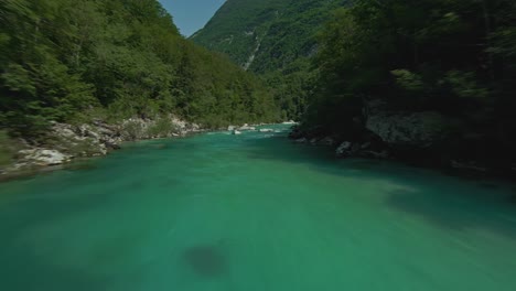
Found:
<svg viewBox="0 0 516 291"><path fill-rule="evenodd" d="M0 169L0 177L31 173L77 159L101 157L120 149L126 141L184 137L203 131L200 125L174 116L160 119L130 118L118 123L94 120L90 123L52 122L37 140L19 139L13 162Z"/></svg>

